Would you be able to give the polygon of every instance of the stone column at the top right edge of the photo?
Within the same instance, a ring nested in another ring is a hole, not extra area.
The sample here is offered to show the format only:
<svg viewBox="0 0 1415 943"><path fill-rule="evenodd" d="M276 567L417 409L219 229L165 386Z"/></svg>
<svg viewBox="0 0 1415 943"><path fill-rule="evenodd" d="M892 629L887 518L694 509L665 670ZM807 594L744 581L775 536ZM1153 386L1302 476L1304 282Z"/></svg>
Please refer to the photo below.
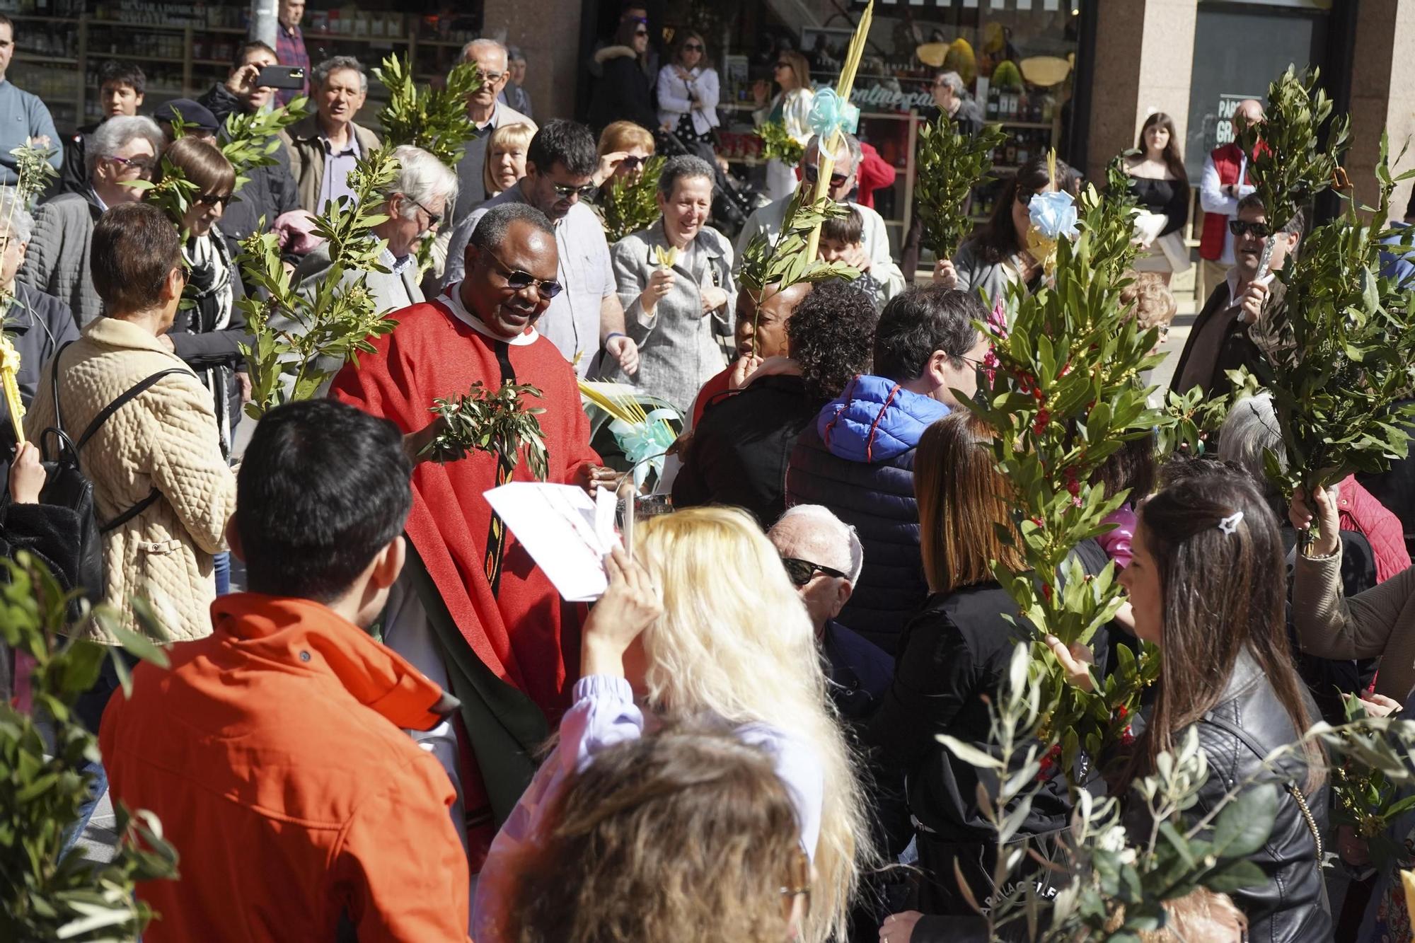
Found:
<svg viewBox="0 0 1415 943"><path fill-rule="evenodd" d="M1415 166L1415 0L1361 0L1356 25L1356 50L1351 57L1351 150L1346 159L1356 195L1365 204L1375 201L1375 161L1381 150L1381 132L1388 132L1391 160L1411 140L1395 170ZM1405 214L1411 181L1402 183L1391 198L1391 217Z"/></svg>

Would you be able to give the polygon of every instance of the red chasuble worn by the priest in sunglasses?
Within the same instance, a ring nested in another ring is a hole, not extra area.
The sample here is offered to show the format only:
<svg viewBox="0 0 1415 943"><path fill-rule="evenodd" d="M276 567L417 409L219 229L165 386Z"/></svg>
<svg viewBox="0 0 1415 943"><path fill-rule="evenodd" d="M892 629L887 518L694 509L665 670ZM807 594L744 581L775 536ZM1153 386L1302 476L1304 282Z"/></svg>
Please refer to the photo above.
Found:
<svg viewBox="0 0 1415 943"><path fill-rule="evenodd" d="M361 354L358 367L340 371L333 396L416 432L432 422L433 399L463 395L478 379L494 389L509 378L545 394L524 401L545 408L538 418L549 481L572 484L576 469L600 463L590 449L574 368L550 341L487 337L458 320L446 299L405 307L393 319L393 333L374 340L376 354ZM406 532L477 658L528 694L555 729L579 675L580 609L560 599L515 535L492 520L483 493L507 480L498 471L498 459L485 452L447 464L420 463ZM525 456L511 480L535 480Z"/></svg>

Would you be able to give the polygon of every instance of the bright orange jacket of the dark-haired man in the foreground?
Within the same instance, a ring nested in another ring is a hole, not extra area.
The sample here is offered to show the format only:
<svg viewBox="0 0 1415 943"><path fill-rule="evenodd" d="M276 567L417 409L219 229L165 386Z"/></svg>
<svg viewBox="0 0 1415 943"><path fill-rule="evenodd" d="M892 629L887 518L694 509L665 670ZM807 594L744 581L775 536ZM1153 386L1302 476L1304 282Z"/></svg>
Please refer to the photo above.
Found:
<svg viewBox="0 0 1415 943"><path fill-rule="evenodd" d="M399 729L456 702L318 603L243 593L211 615L99 732L115 800L181 855L180 879L137 889L160 915L143 939L467 940L453 787Z"/></svg>

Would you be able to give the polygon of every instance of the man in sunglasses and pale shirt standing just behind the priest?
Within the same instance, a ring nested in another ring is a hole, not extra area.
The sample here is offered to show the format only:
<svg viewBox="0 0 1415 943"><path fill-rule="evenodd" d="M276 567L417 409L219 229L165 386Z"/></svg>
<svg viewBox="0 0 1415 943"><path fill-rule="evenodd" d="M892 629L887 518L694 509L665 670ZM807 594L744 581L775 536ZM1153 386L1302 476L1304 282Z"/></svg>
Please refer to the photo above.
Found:
<svg viewBox="0 0 1415 943"><path fill-rule="evenodd" d="M601 350L633 375L638 372L638 347L624 334L624 306L604 227L583 202L594 193L599 160L594 136L584 125L556 119L538 130L526 152L526 176L457 222L441 286L461 280L471 258L467 245L487 212L507 204L535 207L555 227L555 279L565 287L550 296L538 330L576 364L580 377L590 374Z"/></svg>

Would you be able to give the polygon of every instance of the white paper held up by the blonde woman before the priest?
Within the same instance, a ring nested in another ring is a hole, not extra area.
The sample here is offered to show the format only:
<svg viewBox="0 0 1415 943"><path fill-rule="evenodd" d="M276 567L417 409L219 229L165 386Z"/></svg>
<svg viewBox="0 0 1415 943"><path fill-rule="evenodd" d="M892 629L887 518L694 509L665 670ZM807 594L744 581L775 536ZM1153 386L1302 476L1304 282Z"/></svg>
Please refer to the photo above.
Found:
<svg viewBox="0 0 1415 943"><path fill-rule="evenodd" d="M618 545L613 491L600 488L591 498L573 484L512 481L485 496L560 596L591 602L604 595L604 555Z"/></svg>

